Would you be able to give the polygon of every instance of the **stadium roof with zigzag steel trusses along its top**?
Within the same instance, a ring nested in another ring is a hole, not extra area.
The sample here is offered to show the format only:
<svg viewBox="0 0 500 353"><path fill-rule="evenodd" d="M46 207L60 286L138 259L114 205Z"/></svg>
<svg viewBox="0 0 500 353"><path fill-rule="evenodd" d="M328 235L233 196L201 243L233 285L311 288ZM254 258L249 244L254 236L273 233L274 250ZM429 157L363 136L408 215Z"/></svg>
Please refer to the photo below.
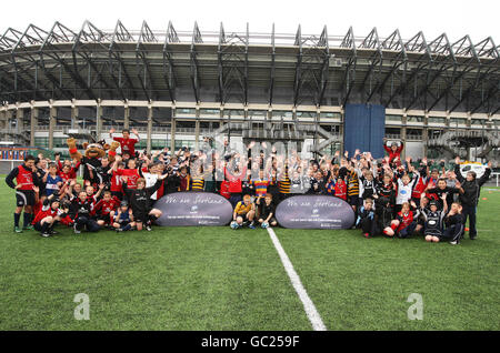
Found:
<svg viewBox="0 0 500 353"><path fill-rule="evenodd" d="M171 22L139 31L84 21L43 30L9 28L0 37L0 100L119 99L500 110L500 47L491 37L403 40L398 30L344 36L177 31Z"/></svg>

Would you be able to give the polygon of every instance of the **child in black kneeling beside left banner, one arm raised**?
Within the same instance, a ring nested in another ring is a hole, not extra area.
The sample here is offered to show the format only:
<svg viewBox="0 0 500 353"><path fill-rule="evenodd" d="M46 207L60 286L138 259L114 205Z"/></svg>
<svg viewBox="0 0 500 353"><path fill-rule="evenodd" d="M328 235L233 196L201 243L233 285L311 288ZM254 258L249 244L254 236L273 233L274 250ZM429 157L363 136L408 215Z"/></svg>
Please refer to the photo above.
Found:
<svg viewBox="0 0 500 353"><path fill-rule="evenodd" d="M127 180L123 181L123 191L130 202L130 206L132 208L133 221L136 222L138 231L142 230L142 224L146 224L146 229L151 231L151 223L161 215L160 210L151 210L151 195L160 189L163 183L163 179L166 178L167 174L158 176L154 185L150 188L146 188L146 180L143 178L139 178L137 180L137 189L129 189L127 186Z"/></svg>

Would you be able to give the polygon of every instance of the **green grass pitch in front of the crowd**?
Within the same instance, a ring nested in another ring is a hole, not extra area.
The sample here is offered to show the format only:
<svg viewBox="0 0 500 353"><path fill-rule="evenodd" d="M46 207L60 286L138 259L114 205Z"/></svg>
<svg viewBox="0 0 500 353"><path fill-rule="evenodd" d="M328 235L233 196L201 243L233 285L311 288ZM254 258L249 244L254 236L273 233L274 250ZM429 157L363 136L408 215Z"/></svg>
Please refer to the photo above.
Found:
<svg viewBox="0 0 500 353"><path fill-rule="evenodd" d="M500 190L460 245L274 229L328 330L499 330ZM311 330L264 230L12 232L1 178L0 330ZM21 221L22 222L22 221ZM73 316L89 295L90 320ZM423 320L410 321L411 293Z"/></svg>

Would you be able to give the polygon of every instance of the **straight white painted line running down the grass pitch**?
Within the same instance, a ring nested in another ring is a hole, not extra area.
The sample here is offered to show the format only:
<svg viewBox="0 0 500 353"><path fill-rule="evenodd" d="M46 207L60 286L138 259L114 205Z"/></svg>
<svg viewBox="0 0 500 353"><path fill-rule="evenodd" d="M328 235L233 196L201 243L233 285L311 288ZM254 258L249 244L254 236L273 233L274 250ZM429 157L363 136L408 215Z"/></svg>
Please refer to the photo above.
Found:
<svg viewBox="0 0 500 353"><path fill-rule="evenodd" d="M274 244L278 254L280 255L281 263L283 264L284 270L287 271L287 274L290 278L290 281L297 294L302 301L303 309L306 310L306 314L308 315L308 319L312 324L312 329L314 331L327 331L327 326L324 326L323 321L321 320L321 316L314 306L314 303L312 303L311 299L308 295L308 292L306 292L306 289L302 285L302 282L300 282L300 278L297 274L296 270L293 269L293 265L290 259L288 258L287 253L284 252L283 246L281 246L281 243L278 240L278 236L276 235L274 231L271 228L268 228L268 233L269 236L271 236L271 241Z"/></svg>

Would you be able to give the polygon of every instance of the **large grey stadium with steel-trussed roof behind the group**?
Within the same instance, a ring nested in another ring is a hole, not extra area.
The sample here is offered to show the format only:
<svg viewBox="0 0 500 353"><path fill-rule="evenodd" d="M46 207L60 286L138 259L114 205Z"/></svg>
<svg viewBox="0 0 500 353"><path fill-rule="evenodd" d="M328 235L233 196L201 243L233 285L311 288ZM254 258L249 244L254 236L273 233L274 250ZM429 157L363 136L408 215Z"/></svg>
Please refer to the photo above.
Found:
<svg viewBox="0 0 500 353"><path fill-rule="evenodd" d="M67 151L68 135L136 128L140 148L196 148L204 135L313 141L342 150L344 108L382 104L406 153L496 158L500 47L446 33L403 40L319 34L9 28L0 38L3 141ZM300 144L299 144L300 145Z"/></svg>

